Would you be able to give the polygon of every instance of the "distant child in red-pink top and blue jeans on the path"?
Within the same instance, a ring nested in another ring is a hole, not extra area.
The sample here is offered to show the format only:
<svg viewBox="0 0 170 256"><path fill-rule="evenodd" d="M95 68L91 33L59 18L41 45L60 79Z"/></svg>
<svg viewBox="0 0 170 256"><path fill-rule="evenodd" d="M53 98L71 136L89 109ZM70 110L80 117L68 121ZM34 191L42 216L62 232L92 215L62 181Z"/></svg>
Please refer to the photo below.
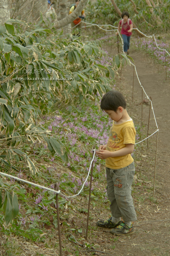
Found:
<svg viewBox="0 0 170 256"><path fill-rule="evenodd" d="M133 29L133 24L132 20L129 19L129 13L128 12L122 12L122 20L119 21L119 26L118 30L120 31L121 29L121 34L123 38L123 50L125 54L128 54L128 49L130 47L130 36L132 35L132 29ZM116 35L119 35L117 32Z"/></svg>

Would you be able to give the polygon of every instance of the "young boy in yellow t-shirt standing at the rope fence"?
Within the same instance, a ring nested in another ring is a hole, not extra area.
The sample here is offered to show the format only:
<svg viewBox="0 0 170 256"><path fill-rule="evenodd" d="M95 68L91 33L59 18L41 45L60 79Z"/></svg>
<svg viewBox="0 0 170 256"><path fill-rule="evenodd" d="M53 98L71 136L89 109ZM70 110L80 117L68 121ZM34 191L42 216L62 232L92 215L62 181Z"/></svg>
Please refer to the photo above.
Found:
<svg viewBox="0 0 170 256"><path fill-rule="evenodd" d="M109 91L103 96L100 107L114 121L107 145L100 145L99 151L96 151L98 157L106 159L107 194L112 217L107 221L97 221L96 225L111 228L114 235L132 234L131 221L136 221L136 212L131 196L135 174L131 153L134 150L136 130L127 113L122 93Z"/></svg>

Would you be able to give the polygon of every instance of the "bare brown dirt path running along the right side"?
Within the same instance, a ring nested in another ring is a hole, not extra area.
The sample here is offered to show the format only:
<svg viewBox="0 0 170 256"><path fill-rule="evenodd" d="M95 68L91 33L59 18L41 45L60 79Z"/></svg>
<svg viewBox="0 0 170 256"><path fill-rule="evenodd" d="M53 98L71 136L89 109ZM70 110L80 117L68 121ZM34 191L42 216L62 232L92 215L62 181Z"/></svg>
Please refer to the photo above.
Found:
<svg viewBox="0 0 170 256"><path fill-rule="evenodd" d="M109 51L109 49L108 49ZM114 51L114 50L113 50ZM147 95L152 96L153 109L155 111L156 120L159 127L158 155L157 155L157 174L156 174L156 190L155 197L149 196L148 186L153 186L154 161L156 149L156 135L150 139L149 150L145 151L146 158L142 159L144 175L152 182L146 183L145 193L140 187L138 189L139 198L135 200L138 221L136 221L136 232L131 236L123 236L114 241L115 248L110 255L114 256L169 256L170 255L170 100L169 100L169 83L170 79L165 80L165 70L153 64L153 59L146 56L142 51L131 49L130 57L136 63L136 69L139 79L146 90ZM128 111L134 114L137 119L141 120L141 102L142 89L135 76L134 80L134 102L132 99L133 84L133 67L127 66L122 70L122 79L119 88L127 95ZM143 94L144 95L144 94ZM149 116L149 105L143 105L143 123L147 125ZM153 114L150 117L150 134L156 131ZM140 163L140 162L139 162ZM147 169L147 170L146 170ZM137 191L137 190L135 190ZM141 194L142 192L142 194ZM150 193L150 195L153 194ZM142 203L141 203L142 202ZM101 217L102 218L102 217ZM164 221L160 221L164 220ZM108 241L111 236L108 231L103 232L103 239ZM107 240L108 239L108 240ZM113 254L112 254L113 253Z"/></svg>

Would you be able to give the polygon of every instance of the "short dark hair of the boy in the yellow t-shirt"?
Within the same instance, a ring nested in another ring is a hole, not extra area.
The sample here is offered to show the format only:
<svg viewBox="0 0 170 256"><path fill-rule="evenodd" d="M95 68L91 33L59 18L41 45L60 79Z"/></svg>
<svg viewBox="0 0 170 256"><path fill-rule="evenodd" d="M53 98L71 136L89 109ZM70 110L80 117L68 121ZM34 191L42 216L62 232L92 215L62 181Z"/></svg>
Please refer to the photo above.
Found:
<svg viewBox="0 0 170 256"><path fill-rule="evenodd" d="M103 96L100 103L102 110L113 110L116 112L119 107L126 108L126 100L122 93L113 90Z"/></svg>

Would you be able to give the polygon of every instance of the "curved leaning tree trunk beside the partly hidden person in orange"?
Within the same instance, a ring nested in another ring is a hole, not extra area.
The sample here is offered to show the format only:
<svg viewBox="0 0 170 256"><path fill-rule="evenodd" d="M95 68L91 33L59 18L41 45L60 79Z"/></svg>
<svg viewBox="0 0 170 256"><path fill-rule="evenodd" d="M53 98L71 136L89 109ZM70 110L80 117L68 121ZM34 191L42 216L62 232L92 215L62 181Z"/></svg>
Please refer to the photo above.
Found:
<svg viewBox="0 0 170 256"><path fill-rule="evenodd" d="M59 20L56 23L56 29L60 29L63 28L65 26L67 26L68 24L70 24L73 20L75 20L79 14L82 12L82 10L85 7L85 4L87 3L88 0L81 0L79 2L79 5L77 6L77 8L74 10L74 12L72 12L70 15L68 15L67 17Z"/></svg>

